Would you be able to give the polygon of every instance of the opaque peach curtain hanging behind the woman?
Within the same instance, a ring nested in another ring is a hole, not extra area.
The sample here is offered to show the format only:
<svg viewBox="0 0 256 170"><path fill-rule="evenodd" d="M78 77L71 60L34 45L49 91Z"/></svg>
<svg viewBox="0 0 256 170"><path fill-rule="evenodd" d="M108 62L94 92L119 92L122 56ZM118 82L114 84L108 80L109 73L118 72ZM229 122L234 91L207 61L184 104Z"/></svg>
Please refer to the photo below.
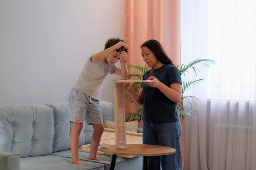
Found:
<svg viewBox="0 0 256 170"><path fill-rule="evenodd" d="M146 40L156 39L173 63L180 65L180 0L126 0L125 3L127 63L144 66L140 46ZM135 113L134 110L126 103L126 113ZM181 147L184 158L183 134Z"/></svg>

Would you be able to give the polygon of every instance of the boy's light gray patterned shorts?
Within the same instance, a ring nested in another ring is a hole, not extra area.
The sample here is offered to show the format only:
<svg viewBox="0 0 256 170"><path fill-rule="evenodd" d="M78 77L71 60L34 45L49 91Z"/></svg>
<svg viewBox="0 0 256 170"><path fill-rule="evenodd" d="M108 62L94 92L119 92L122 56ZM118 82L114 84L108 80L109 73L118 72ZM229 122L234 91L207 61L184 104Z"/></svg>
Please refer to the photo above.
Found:
<svg viewBox="0 0 256 170"><path fill-rule="evenodd" d="M91 98L79 89L72 88L68 98L70 122L103 124L99 100Z"/></svg>

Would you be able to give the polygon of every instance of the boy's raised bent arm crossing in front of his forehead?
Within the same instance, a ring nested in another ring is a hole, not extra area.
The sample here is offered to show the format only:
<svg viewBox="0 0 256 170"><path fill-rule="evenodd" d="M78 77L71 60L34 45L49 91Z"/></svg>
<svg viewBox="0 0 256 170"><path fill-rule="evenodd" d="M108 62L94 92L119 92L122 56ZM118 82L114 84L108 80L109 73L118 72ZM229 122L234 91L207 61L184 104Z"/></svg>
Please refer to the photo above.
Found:
<svg viewBox="0 0 256 170"><path fill-rule="evenodd" d="M125 42L119 41L114 46L111 46L110 48L107 48L107 49L95 54L94 56L92 56L91 61L94 63L98 63L98 62L102 61L103 59L105 59L111 52L119 49L121 46L128 48L128 46Z"/></svg>

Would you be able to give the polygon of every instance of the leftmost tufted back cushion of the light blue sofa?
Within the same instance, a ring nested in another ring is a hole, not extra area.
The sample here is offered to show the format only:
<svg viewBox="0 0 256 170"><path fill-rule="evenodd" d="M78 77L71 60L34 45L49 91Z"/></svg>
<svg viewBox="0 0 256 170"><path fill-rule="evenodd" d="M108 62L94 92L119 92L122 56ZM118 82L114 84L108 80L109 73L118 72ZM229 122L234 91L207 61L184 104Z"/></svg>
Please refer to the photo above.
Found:
<svg viewBox="0 0 256 170"><path fill-rule="evenodd" d="M20 157L49 155L54 112L45 105L0 106L0 150Z"/></svg>

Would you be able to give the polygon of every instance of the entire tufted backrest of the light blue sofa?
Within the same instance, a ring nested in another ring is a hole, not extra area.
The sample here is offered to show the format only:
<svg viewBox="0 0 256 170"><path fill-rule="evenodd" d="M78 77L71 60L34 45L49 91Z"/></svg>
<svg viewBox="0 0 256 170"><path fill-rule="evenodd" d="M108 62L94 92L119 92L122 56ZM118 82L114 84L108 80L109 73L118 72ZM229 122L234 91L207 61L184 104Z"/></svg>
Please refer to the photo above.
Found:
<svg viewBox="0 0 256 170"><path fill-rule="evenodd" d="M100 101L100 109L103 118L113 121L112 103ZM68 102L0 106L0 151L18 153L21 158L70 149L71 129ZM93 131L85 121L79 146L90 144Z"/></svg>

